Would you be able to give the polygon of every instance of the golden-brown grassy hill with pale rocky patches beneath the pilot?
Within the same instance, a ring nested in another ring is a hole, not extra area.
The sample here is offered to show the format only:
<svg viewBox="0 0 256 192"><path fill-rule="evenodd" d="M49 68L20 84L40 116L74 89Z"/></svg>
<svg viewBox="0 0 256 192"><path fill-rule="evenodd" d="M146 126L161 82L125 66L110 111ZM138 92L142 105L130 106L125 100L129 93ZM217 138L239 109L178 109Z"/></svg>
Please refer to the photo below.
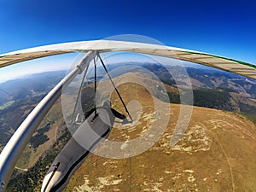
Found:
<svg viewBox="0 0 256 192"><path fill-rule="evenodd" d="M124 142L143 135L157 119L154 101L170 116L165 133L148 151L128 159L91 154L65 191L256 190L256 127L251 121L237 113L194 107L184 137L172 148L180 105L161 102L140 84L121 84L118 89L135 123L115 124L110 140ZM125 113L115 93L111 100L113 108Z"/></svg>

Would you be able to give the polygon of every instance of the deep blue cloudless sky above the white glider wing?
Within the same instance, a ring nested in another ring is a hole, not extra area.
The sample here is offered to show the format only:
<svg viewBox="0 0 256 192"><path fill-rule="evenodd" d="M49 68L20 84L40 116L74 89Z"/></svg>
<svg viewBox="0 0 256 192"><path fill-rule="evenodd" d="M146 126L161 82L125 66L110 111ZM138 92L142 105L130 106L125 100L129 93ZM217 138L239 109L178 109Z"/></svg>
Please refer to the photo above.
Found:
<svg viewBox="0 0 256 192"><path fill-rule="evenodd" d="M255 0L1 0L0 6L0 54L139 34L256 64Z"/></svg>

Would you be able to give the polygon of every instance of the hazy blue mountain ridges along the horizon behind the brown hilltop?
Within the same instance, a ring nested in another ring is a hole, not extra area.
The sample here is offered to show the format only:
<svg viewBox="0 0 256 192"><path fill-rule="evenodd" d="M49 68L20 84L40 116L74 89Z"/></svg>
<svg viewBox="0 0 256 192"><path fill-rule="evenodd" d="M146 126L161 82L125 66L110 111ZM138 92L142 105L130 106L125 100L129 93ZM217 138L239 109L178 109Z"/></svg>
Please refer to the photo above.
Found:
<svg viewBox="0 0 256 192"><path fill-rule="evenodd" d="M197 65L196 65L197 66ZM158 63L116 63L108 65L108 71L113 77L119 76L128 72L143 72L143 69L148 69L157 77L163 80L163 83L175 85L177 82L172 77L176 74L176 80L183 85L188 85L188 79L184 77L184 67L180 66L163 66ZM190 81L194 89L229 89L234 92L239 92L244 96L256 98L256 80L248 79L235 73L229 73L218 70L212 67L185 67L189 75ZM113 73L112 73L113 72ZM171 73L170 73L171 72ZM104 76L105 72L102 67L98 67L100 76ZM105 75L105 78L107 76Z"/></svg>

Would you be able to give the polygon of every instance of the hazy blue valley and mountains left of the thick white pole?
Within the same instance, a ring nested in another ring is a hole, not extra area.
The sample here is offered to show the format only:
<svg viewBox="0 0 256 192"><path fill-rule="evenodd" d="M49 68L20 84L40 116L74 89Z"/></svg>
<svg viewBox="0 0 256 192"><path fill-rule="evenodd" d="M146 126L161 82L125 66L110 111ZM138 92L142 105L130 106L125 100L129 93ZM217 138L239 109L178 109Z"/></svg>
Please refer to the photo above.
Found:
<svg viewBox="0 0 256 192"><path fill-rule="evenodd" d="M37 73L0 84L0 146L8 142L27 114L65 76L65 73Z"/></svg>

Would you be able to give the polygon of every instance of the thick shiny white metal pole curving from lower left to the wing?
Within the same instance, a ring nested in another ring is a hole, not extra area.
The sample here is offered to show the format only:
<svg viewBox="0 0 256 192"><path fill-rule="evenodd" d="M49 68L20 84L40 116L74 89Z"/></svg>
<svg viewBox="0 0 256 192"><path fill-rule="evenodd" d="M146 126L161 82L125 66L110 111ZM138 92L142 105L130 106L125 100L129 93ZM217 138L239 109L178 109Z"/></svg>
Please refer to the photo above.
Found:
<svg viewBox="0 0 256 192"><path fill-rule="evenodd" d="M20 158L22 151L26 148L26 144L44 119L46 113L48 113L49 109L61 96L61 91L65 90L67 85L70 84L78 74L84 71L84 68L90 64L90 61L92 61L95 56L96 51L88 51L79 65L75 67L72 72L68 73L68 75L38 103L38 106L26 117L3 148L0 154L0 192L5 191L9 178L15 169L15 164Z"/></svg>

